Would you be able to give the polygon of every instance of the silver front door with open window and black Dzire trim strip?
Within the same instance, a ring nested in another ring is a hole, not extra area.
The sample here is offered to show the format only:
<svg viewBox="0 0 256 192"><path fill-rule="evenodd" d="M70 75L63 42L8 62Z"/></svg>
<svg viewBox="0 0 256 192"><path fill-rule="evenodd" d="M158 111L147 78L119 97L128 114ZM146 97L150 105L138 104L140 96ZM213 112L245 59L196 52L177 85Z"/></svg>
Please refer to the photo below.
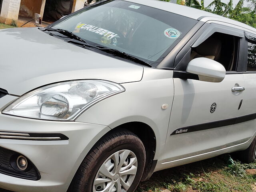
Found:
<svg viewBox="0 0 256 192"><path fill-rule="evenodd" d="M234 145L228 134L240 126L235 121L244 92L232 92L232 88L245 86L243 74L237 72L240 41L239 37L216 32L192 48L190 60L216 60L227 73L220 83L173 79L174 101L162 163Z"/></svg>

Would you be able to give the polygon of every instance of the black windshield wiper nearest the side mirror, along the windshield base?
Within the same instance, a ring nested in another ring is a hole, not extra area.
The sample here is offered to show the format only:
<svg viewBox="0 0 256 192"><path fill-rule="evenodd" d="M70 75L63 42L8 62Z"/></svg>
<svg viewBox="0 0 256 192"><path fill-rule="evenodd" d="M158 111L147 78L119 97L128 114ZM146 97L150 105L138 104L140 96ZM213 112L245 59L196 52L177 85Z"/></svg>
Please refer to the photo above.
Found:
<svg viewBox="0 0 256 192"><path fill-rule="evenodd" d="M71 42L71 43L74 43L74 44L82 45L83 48L86 48L86 47L96 48L98 50L101 50L103 52L107 52L107 53L113 54L113 55L118 56L120 58L125 58L127 60L130 60L130 61L142 64L142 65L145 65L145 66L148 66L148 67L152 67L147 62L145 62L145 61L143 61L143 60L141 60L139 58L136 58L136 57L134 57L134 56L132 56L132 55L130 55L128 53L119 51L117 49L112 49L112 48L108 48L108 47L105 47L105 46L94 46L94 45L88 44L87 42L82 43L80 41L73 40L73 39L70 39L67 42Z"/></svg>

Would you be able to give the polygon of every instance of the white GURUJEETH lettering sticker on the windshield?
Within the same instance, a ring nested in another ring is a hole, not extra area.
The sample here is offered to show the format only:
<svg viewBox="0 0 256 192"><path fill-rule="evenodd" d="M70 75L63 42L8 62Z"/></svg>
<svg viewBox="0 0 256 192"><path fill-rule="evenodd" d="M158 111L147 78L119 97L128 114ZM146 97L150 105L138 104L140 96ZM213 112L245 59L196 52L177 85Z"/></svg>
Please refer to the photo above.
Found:
<svg viewBox="0 0 256 192"><path fill-rule="evenodd" d="M115 33L111 32L109 30L106 30L106 29L103 29L103 28L100 28L100 27L96 27L96 26L93 26L93 25L89 25L89 24L80 24L76 28L80 28L80 29L83 29L83 30L94 32L96 34L103 35L104 37L107 37L109 39L112 39L115 36L118 36L118 34L115 34Z"/></svg>

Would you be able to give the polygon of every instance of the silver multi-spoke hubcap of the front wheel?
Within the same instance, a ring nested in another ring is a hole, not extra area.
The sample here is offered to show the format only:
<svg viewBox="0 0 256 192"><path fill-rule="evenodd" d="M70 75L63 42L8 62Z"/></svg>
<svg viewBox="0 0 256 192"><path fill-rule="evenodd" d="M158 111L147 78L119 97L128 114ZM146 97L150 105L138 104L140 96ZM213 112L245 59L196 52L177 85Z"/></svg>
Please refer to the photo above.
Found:
<svg viewBox="0 0 256 192"><path fill-rule="evenodd" d="M126 192L136 176L138 161L130 150L112 154L94 178L93 192Z"/></svg>

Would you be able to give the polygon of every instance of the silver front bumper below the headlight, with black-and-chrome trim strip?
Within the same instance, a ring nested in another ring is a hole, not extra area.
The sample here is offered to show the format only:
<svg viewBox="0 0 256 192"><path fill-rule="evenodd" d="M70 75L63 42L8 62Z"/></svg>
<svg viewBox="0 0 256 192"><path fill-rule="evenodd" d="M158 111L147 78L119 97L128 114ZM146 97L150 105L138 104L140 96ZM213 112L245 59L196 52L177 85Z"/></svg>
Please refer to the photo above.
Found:
<svg viewBox="0 0 256 192"><path fill-rule="evenodd" d="M11 102L12 96L0 99ZM2 105L1 105L2 104ZM108 132L104 125L81 122L32 120L0 114L0 132L60 133L68 140L37 141L0 139L0 147L26 156L40 172L40 180L32 181L0 174L0 188L15 192L66 192L86 154Z"/></svg>

